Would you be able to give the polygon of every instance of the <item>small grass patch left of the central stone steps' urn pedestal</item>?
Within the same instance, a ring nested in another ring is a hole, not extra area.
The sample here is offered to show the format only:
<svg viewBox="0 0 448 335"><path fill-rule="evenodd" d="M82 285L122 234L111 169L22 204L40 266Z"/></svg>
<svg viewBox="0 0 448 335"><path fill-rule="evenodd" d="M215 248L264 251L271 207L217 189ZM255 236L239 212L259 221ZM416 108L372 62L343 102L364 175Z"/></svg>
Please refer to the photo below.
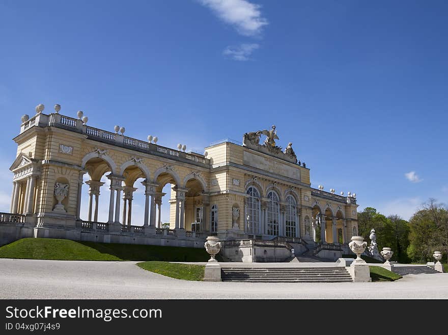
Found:
<svg viewBox="0 0 448 335"><path fill-rule="evenodd" d="M203 265L189 265L168 262L142 262L137 263L142 269L162 274L167 277L184 279L184 280L203 280Z"/></svg>

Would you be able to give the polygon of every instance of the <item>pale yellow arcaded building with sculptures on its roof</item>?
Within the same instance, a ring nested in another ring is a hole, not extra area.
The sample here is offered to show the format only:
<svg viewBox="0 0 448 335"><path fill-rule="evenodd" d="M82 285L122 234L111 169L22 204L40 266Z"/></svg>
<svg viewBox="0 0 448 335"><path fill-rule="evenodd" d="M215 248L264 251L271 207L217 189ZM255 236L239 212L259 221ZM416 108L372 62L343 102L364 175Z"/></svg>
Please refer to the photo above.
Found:
<svg viewBox="0 0 448 335"><path fill-rule="evenodd" d="M310 167L292 143L284 150L277 145L275 126L198 154L160 146L152 137L124 136L118 126L114 132L95 128L82 112L60 114L59 105L54 113L43 109L24 115L14 138L11 208L0 217L0 245L45 237L202 248L207 236L217 235L223 256L256 262L284 261L293 251L338 257L357 235L355 195L312 188ZM139 178L144 181L136 185ZM170 199L163 197L166 184ZM145 214L137 220L133 193L142 187ZM86 196L88 213L81 215ZM98 221L100 196L108 199L104 222ZM170 203L169 228L161 226L162 197Z"/></svg>

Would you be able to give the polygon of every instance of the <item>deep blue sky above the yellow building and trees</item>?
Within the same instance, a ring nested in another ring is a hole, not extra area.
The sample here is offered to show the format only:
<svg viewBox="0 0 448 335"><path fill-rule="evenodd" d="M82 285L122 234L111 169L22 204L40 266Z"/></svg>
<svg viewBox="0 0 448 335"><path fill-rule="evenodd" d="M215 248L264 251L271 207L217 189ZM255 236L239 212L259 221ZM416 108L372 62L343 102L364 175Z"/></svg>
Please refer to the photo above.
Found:
<svg viewBox="0 0 448 335"><path fill-rule="evenodd" d="M0 210L11 139L40 103L200 151L275 124L312 186L360 210L448 202L447 16L437 0L3 0Z"/></svg>

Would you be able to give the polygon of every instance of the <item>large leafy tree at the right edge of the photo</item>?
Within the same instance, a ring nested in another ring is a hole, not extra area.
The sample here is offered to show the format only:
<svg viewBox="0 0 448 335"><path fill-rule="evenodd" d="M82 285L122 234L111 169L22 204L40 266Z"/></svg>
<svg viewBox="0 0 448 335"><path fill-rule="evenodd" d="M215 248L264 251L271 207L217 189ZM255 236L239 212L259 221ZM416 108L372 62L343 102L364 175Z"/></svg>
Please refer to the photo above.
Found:
<svg viewBox="0 0 448 335"><path fill-rule="evenodd" d="M448 253L448 211L442 203L429 199L409 220L409 257L416 262L432 261L434 251Z"/></svg>

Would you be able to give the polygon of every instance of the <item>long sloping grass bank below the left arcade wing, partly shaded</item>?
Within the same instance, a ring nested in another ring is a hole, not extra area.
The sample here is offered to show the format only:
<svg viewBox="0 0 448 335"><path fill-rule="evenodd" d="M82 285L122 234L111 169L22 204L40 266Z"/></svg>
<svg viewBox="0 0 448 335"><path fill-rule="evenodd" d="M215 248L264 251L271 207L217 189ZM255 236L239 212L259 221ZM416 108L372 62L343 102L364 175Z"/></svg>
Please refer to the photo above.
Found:
<svg viewBox="0 0 448 335"><path fill-rule="evenodd" d="M0 258L76 261L207 262L204 248L27 238L0 247Z"/></svg>

